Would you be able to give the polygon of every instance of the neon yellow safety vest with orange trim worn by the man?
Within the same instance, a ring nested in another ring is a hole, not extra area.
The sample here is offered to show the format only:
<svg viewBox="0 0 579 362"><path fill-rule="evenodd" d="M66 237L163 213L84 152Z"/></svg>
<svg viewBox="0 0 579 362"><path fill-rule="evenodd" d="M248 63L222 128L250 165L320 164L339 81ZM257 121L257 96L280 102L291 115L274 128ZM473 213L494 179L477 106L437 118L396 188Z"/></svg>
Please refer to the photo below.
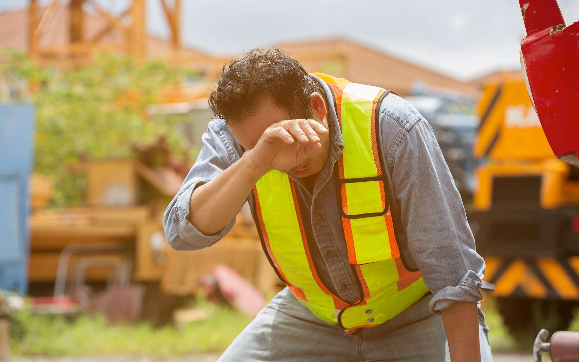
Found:
<svg viewBox="0 0 579 362"><path fill-rule="evenodd" d="M280 279L315 316L351 333L391 319L428 289L419 271L405 268L390 214L387 170L378 132L380 103L390 92L326 74L315 75L332 89L342 130L344 148L338 160L336 196L361 299L346 302L320 280L296 185L287 174L273 170L257 182L253 211L263 250Z"/></svg>

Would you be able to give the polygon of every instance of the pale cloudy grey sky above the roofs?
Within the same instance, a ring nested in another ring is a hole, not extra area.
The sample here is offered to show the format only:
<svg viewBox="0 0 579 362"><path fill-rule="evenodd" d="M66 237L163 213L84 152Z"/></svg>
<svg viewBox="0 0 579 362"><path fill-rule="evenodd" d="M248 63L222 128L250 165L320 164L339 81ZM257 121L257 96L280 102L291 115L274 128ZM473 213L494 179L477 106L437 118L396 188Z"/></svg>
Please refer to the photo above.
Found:
<svg viewBox="0 0 579 362"><path fill-rule="evenodd" d="M149 31L166 36L160 1L147 1ZM27 4L1 0L0 11ZM559 6L567 24L579 21L579 1ZM181 17L185 45L213 54L340 36L463 80L519 68L525 36L517 0L182 0Z"/></svg>

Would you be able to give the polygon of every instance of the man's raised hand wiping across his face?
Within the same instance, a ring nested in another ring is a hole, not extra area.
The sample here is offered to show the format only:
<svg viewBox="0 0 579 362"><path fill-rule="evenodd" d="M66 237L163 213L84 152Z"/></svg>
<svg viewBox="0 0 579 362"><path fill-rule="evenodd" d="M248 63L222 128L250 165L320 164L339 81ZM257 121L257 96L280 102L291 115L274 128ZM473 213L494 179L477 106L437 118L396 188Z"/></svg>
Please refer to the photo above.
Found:
<svg viewBox="0 0 579 362"><path fill-rule="evenodd" d="M288 172L321 147L318 134L328 130L314 119L283 120L267 127L248 153L248 164L256 175L271 170Z"/></svg>

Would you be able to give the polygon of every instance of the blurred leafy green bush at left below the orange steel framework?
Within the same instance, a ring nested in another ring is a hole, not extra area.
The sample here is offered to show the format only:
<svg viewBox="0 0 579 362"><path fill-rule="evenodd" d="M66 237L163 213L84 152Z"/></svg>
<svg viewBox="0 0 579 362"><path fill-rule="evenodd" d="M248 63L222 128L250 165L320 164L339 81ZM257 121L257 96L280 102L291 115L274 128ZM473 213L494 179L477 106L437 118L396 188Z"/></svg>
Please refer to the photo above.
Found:
<svg viewBox="0 0 579 362"><path fill-rule="evenodd" d="M12 53L0 67L37 87L31 96L35 171L54 177L55 206L82 202L85 181L71 167L83 160L126 158L134 144L151 144L159 136L176 155L189 148L175 127L181 119L153 120L145 109L157 90L192 71L163 61L135 63L113 53L98 54L90 64L74 68L41 66L24 53Z"/></svg>

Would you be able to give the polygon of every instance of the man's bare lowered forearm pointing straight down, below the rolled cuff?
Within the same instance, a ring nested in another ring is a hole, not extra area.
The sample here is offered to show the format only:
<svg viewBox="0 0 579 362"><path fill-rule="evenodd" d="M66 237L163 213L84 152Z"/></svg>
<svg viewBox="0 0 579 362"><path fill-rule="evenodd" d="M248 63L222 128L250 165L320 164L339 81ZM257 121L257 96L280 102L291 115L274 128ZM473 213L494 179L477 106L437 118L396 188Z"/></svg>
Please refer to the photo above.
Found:
<svg viewBox="0 0 579 362"><path fill-rule="evenodd" d="M474 302L455 302L441 311L450 360L477 362L481 360L478 309Z"/></svg>

